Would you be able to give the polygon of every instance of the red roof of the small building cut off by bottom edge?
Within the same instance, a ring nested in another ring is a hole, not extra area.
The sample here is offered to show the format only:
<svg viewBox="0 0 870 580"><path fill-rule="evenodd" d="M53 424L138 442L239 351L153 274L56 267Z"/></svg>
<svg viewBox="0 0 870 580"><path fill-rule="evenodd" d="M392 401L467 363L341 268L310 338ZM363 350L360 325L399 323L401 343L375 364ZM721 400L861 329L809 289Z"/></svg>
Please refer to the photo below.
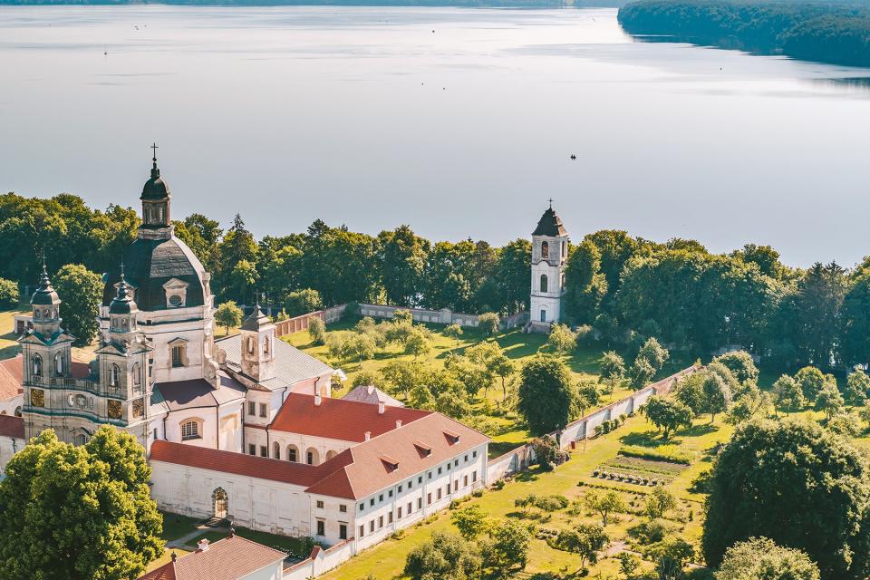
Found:
<svg viewBox="0 0 870 580"><path fill-rule="evenodd" d="M277 565L287 555L241 536L229 536L162 565L139 580L238 580L267 565Z"/></svg>

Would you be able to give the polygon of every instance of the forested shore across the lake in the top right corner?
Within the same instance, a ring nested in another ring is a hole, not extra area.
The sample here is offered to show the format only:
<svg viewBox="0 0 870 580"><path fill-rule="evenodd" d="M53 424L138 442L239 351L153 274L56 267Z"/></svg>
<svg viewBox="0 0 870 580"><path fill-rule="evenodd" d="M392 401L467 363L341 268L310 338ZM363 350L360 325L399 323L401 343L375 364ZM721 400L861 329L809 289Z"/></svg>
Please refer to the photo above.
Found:
<svg viewBox="0 0 870 580"><path fill-rule="evenodd" d="M629 34L870 66L870 6L864 2L641 0L620 9L619 23Z"/></svg>

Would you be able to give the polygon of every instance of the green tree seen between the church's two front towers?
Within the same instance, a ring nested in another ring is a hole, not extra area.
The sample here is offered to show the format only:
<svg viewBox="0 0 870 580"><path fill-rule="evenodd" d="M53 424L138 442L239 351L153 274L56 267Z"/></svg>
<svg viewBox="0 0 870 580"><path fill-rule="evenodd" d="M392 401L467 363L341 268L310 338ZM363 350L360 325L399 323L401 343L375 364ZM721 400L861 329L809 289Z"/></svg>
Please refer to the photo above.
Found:
<svg viewBox="0 0 870 580"><path fill-rule="evenodd" d="M102 276L80 264L67 264L57 271L53 282L61 299L63 329L75 336L76 346L92 343L99 330Z"/></svg>

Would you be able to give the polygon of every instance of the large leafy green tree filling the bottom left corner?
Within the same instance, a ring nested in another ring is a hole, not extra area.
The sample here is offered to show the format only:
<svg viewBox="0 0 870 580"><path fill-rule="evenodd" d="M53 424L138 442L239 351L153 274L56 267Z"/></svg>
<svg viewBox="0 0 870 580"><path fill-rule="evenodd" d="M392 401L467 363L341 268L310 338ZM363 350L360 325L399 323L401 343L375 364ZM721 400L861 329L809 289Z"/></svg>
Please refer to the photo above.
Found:
<svg viewBox="0 0 870 580"><path fill-rule="evenodd" d="M131 434L75 447L43 430L0 481L0 578L130 580L163 553L151 469Z"/></svg>

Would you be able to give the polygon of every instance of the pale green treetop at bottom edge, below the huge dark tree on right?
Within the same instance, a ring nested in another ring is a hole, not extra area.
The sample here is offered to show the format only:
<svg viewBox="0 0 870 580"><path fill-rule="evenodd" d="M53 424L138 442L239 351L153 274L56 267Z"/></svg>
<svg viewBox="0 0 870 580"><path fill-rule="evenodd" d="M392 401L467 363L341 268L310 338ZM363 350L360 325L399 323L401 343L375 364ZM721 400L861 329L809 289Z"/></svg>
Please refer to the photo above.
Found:
<svg viewBox="0 0 870 580"><path fill-rule="evenodd" d="M818 566L803 550L752 537L730 546L716 580L819 580Z"/></svg>

